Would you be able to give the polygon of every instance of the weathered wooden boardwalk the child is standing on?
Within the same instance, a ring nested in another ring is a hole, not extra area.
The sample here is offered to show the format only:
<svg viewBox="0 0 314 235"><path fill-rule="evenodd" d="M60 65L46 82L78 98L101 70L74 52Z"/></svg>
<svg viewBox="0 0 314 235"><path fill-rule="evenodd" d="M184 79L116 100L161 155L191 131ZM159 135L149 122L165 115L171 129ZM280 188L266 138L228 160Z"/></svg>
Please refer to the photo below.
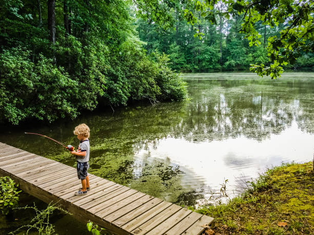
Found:
<svg viewBox="0 0 314 235"><path fill-rule="evenodd" d="M77 220L89 220L115 234L200 234L213 218L89 175L91 190L74 196L81 186L74 167L0 142L0 176L9 176L26 193L58 202Z"/></svg>

